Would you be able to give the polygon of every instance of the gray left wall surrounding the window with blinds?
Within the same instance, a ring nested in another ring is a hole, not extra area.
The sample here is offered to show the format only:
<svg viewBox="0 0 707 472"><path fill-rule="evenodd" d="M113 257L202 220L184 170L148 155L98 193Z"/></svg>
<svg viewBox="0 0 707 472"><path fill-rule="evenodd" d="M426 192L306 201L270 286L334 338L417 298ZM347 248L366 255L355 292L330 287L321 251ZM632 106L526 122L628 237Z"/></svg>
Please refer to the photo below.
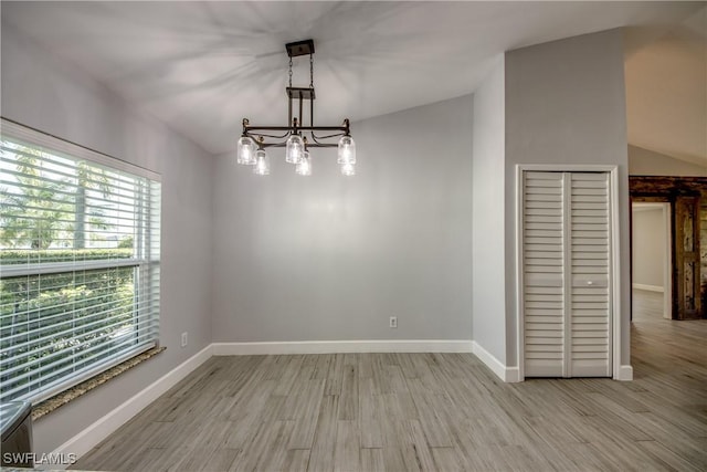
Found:
<svg viewBox="0 0 707 472"><path fill-rule="evenodd" d="M213 159L2 24L2 116L162 175L160 343L167 350L34 424L51 452L211 342ZM180 348L181 332L189 346Z"/></svg>

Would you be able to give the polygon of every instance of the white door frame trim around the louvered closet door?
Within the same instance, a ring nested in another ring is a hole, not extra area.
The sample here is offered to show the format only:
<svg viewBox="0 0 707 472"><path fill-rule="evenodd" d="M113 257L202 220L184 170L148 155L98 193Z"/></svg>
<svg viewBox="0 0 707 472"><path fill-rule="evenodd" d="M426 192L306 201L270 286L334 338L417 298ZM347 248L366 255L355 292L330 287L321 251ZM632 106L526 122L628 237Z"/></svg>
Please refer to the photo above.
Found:
<svg viewBox="0 0 707 472"><path fill-rule="evenodd" d="M541 171L541 172L605 172L609 174L609 209L610 218L609 234L611 241L609 243L609 259L610 259L610 273L609 273L609 287L610 294L610 311L609 311L609 336L612 352L610 353L610 366L612 370L612 378L614 380L631 380L632 376L629 373L624 373L621 365L621 219L619 214L619 166L602 166L602 165L546 165L546 164L519 164L516 165L516 363L518 366L518 380L525 380L525 300L524 300L524 264L523 264L523 229L524 229L524 189L523 189L523 175L527 171Z"/></svg>

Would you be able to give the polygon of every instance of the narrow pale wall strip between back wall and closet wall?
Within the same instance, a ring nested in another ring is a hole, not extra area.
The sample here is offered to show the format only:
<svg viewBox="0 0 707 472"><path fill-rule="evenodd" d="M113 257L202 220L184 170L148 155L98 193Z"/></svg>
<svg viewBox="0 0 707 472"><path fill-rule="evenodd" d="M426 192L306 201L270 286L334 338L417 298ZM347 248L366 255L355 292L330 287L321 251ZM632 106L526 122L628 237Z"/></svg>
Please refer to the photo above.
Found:
<svg viewBox="0 0 707 472"><path fill-rule="evenodd" d="M474 340L506 363L504 59L474 93ZM513 254L508 254L509 258Z"/></svg>

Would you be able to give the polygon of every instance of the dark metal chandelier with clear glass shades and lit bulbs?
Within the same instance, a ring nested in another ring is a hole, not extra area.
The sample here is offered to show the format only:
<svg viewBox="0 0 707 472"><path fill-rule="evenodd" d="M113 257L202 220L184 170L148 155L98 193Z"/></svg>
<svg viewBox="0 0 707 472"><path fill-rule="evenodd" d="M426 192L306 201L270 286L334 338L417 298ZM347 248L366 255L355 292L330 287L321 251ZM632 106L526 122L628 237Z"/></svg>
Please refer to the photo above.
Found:
<svg viewBox="0 0 707 472"><path fill-rule="evenodd" d="M285 88L289 99L287 107L287 126L255 126L247 118L243 119L243 134L238 143L238 164L253 166L253 172L260 176L270 174L270 157L266 148L284 147L285 161L295 166L295 172L300 176L312 175L310 148L337 147L337 162L341 166L341 174L356 174L356 143L351 138L349 119L341 126L314 125L314 41L305 40L285 44L289 56L288 86ZM292 86L292 60L302 55L309 55L309 86ZM305 102L309 102L309 125L305 125L303 113ZM293 116L293 108L299 113ZM317 134L319 133L319 134ZM338 143L336 141L338 138Z"/></svg>

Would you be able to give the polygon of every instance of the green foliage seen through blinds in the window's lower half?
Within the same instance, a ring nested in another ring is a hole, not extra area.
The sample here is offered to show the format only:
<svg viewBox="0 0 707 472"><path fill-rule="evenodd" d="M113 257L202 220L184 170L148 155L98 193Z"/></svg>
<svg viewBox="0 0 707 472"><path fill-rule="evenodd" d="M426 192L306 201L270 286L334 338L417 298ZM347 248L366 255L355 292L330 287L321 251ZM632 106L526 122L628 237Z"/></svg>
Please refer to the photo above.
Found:
<svg viewBox="0 0 707 472"><path fill-rule="evenodd" d="M22 260L64 262L130 258L131 250L2 251L3 264ZM0 384L29 385L46 370L80 369L83 360L112 354L134 333L136 269L110 268L0 281ZM94 347L102 346L99 349ZM11 359L10 359L11 357ZM59 373L59 377L62 373ZM15 395L17 396L17 395Z"/></svg>

